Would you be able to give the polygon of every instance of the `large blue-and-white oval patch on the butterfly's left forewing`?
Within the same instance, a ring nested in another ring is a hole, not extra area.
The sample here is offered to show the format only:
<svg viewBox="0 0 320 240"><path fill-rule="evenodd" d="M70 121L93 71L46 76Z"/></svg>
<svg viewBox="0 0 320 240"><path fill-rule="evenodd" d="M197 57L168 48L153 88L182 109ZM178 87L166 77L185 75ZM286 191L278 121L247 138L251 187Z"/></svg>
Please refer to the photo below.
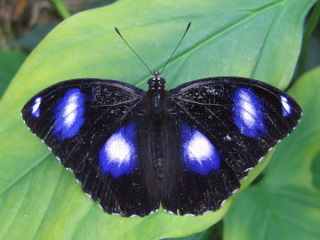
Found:
<svg viewBox="0 0 320 240"><path fill-rule="evenodd" d="M52 129L58 140L76 136L84 124L85 96L79 89L73 88L65 93L54 108L56 122Z"/></svg>

